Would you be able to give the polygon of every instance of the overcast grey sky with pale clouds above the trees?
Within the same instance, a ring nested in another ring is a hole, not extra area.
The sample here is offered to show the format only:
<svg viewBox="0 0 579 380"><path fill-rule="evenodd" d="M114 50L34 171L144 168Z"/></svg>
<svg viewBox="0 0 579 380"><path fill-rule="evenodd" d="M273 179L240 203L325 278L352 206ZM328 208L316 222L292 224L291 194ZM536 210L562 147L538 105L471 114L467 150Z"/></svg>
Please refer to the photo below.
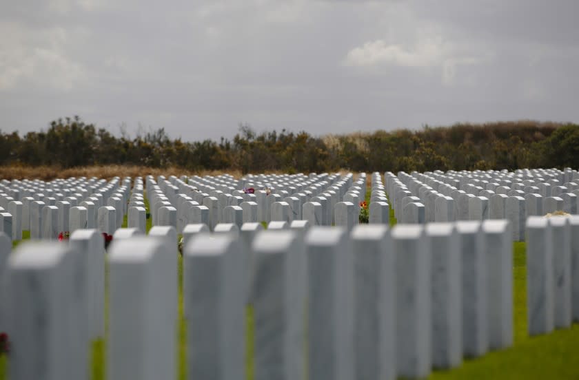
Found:
<svg viewBox="0 0 579 380"><path fill-rule="evenodd" d="M79 115L184 140L579 121L577 0L18 0L0 129Z"/></svg>

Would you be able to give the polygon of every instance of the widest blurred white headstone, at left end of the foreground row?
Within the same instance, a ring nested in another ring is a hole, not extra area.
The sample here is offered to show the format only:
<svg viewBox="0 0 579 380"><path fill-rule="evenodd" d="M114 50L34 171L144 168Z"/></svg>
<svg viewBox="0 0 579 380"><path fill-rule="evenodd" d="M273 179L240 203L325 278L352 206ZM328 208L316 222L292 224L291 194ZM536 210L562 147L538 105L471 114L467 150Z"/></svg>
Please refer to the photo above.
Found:
<svg viewBox="0 0 579 380"><path fill-rule="evenodd" d="M73 295L72 250L67 244L25 243L8 260L10 379L81 379L86 373L85 331L74 320L83 304Z"/></svg>

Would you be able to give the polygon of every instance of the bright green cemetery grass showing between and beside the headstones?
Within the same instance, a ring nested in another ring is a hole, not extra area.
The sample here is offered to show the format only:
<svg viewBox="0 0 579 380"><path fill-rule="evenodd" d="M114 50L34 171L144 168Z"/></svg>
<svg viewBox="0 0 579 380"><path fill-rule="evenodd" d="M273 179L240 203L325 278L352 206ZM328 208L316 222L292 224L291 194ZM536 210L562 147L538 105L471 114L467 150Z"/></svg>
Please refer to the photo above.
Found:
<svg viewBox="0 0 579 380"><path fill-rule="evenodd" d="M369 202L370 191L367 191ZM145 208L149 204L145 197ZM390 226L396 224L394 210L390 209ZM125 215L123 227L127 226ZM147 232L152 228L152 220L146 220ZM29 231L23 231L23 240L30 238ZM17 246L21 241L13 242ZM511 348L491 351L477 359L465 359L462 366L452 370L435 370L429 379L576 379L579 376L577 362L579 356L579 324L571 328L555 330L548 335L529 337L527 332L527 269L525 260L525 242L513 243L513 276L514 276L514 345ZM179 363L178 379L186 379L186 322L183 318L183 260L178 259L179 276L179 325L177 355ZM108 279L108 270L105 278ZM108 284L108 281L105 282ZM105 291L108 295L108 291ZM106 296L105 296L106 297ZM108 297L107 297L108 298ZM105 315L108 315L108 302L105 301ZM252 307L246 309L246 358L245 379L254 379L254 321ZM106 326L106 321L105 321ZM90 357L92 380L105 379L105 349L103 339L94 341ZM0 355L0 380L8 380L8 358ZM313 379L312 379L313 380Z"/></svg>

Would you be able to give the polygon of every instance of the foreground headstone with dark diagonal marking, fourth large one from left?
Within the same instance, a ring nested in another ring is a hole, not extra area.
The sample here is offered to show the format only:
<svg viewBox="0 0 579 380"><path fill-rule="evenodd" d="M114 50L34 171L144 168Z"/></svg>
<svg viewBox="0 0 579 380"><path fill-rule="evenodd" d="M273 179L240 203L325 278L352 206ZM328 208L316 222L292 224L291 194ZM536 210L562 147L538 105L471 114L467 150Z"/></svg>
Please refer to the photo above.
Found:
<svg viewBox="0 0 579 380"><path fill-rule="evenodd" d="M253 242L255 379L303 377L305 251L294 231L263 231Z"/></svg>

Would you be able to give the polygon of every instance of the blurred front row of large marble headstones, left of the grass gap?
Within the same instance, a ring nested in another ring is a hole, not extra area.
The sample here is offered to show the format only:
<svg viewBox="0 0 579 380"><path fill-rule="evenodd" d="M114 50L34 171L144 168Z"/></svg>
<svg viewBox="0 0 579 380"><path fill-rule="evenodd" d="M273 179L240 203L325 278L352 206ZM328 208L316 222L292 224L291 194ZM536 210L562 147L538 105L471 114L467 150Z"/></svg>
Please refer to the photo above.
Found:
<svg viewBox="0 0 579 380"><path fill-rule="evenodd" d="M348 231L294 220L272 221L267 231L259 223L217 224L209 235L205 224L188 224L189 377L243 376L246 304L254 313L256 379L425 377L508 347L509 228L506 220L486 220ZM10 379L81 378L89 338L102 332L102 319L91 319L103 311L101 235L80 230L68 245L17 251L3 271L10 277L3 310L14 341ZM114 233L108 379L174 377L176 255L172 226L156 226L148 237L135 228ZM41 306L49 304L59 307Z"/></svg>

